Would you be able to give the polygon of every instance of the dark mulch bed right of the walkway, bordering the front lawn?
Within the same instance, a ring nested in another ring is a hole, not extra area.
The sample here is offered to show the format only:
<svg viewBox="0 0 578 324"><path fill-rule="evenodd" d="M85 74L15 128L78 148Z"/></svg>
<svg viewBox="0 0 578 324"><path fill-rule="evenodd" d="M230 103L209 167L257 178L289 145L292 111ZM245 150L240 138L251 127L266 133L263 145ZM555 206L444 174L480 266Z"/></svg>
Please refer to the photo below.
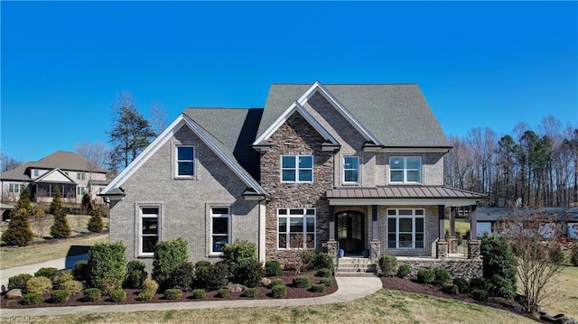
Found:
<svg viewBox="0 0 578 324"><path fill-rule="evenodd" d="M540 319L532 316L531 314L522 312L521 310L522 305L514 300L507 300L504 298L489 298L488 301L476 301L469 294L465 293L458 293L455 295L442 292L442 287L436 286L434 284L423 284L418 283L413 280L407 278L398 278L398 277L381 277L381 282L383 284L383 288L401 291L401 292L414 292L414 293L421 293L424 295L430 295L433 297L439 298L447 298L453 299L456 301L464 301L475 303L479 305L489 306L492 308L500 309L500 310L508 310L519 315L525 316L528 319L536 320L537 322L543 322Z"/></svg>

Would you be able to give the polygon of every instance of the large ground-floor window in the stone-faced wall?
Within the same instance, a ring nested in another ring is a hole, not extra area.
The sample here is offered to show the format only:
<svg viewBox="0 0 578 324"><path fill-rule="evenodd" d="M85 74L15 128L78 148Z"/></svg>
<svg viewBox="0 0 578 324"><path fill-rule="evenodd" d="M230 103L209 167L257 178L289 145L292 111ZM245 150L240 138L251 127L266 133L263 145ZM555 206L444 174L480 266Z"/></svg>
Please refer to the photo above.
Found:
<svg viewBox="0 0 578 324"><path fill-rule="evenodd" d="M315 209L277 209L277 247L315 248Z"/></svg>

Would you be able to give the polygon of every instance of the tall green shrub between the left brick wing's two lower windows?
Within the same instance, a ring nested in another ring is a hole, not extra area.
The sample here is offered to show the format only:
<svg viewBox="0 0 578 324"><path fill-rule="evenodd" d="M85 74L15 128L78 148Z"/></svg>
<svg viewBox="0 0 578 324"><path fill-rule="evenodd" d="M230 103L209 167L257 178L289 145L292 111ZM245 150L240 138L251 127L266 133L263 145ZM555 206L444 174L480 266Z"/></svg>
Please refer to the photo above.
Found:
<svg viewBox="0 0 578 324"><path fill-rule="evenodd" d="M171 285L172 272L187 261L187 241L181 237L154 245L153 279L164 290Z"/></svg>

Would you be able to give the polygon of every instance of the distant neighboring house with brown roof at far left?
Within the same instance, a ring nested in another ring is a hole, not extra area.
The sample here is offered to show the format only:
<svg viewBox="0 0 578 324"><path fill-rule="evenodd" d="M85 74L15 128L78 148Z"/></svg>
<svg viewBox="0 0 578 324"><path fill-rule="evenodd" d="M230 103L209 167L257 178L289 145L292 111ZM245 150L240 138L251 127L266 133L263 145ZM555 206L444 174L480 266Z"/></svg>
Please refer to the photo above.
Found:
<svg viewBox="0 0 578 324"><path fill-rule="evenodd" d="M107 186L107 170L76 153L57 151L38 162L26 162L13 171L0 174L2 201L16 201L23 186L30 188L35 202L51 202L55 188L63 201L80 203L85 193L102 201L97 194Z"/></svg>

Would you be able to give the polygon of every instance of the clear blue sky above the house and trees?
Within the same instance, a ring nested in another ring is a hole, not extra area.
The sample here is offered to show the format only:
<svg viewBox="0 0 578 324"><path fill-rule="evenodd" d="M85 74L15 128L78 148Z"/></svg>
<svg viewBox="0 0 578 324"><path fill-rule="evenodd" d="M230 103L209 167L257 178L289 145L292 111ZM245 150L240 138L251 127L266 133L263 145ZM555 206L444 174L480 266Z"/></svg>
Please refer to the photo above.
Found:
<svg viewBox="0 0 578 324"><path fill-rule="evenodd" d="M446 134L578 125L578 3L6 2L1 149L107 143L117 94L167 123L273 82L420 85Z"/></svg>

